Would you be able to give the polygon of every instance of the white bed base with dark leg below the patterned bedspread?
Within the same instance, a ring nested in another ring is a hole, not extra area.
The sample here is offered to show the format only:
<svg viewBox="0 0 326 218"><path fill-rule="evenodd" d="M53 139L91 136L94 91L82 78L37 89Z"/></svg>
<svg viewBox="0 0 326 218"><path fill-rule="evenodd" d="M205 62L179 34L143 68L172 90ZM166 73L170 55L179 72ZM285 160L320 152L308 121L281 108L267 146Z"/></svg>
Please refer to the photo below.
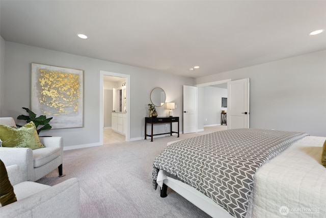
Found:
<svg viewBox="0 0 326 218"><path fill-rule="evenodd" d="M168 186L180 196L193 203L195 206L213 218L234 218L234 216L228 213L220 205L216 204L213 200L205 196L203 193L196 190L196 188L168 176L167 179L163 181L160 197L165 198L168 196Z"/></svg>

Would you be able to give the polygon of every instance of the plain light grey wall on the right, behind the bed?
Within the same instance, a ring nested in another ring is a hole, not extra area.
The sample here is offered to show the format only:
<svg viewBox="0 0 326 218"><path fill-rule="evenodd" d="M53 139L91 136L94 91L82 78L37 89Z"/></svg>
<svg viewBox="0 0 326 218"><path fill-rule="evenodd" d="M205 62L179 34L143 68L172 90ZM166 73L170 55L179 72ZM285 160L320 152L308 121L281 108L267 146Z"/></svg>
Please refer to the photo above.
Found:
<svg viewBox="0 0 326 218"><path fill-rule="evenodd" d="M250 78L250 127L326 136L326 50L196 79Z"/></svg>

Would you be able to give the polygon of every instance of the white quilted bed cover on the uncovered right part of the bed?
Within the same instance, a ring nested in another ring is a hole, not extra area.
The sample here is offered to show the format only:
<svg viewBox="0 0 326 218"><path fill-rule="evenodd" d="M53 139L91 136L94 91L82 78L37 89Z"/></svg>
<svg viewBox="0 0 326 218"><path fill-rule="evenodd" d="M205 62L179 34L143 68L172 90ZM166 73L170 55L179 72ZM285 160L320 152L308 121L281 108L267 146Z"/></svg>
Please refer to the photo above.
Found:
<svg viewBox="0 0 326 218"><path fill-rule="evenodd" d="M307 136L259 168L251 217L326 217L325 140Z"/></svg>

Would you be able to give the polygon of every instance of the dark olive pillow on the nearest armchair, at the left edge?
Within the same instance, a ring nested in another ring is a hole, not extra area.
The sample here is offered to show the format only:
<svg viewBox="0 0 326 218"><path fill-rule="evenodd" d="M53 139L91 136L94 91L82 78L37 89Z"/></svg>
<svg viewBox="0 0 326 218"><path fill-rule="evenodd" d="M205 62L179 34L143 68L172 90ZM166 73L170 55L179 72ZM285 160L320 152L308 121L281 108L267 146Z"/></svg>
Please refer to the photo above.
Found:
<svg viewBox="0 0 326 218"><path fill-rule="evenodd" d="M0 160L0 203L2 206L17 201L4 162Z"/></svg>

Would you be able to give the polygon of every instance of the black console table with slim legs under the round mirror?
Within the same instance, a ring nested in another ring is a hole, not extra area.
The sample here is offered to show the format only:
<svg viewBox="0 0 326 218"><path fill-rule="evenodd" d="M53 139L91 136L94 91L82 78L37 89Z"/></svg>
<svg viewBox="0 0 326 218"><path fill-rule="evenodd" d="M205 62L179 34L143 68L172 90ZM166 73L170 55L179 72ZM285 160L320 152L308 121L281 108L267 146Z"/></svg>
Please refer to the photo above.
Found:
<svg viewBox="0 0 326 218"><path fill-rule="evenodd" d="M172 131L172 123L178 123L178 132ZM167 133L159 133L159 134L153 134L153 124L165 124L170 123L170 132ZM151 134L148 135L146 132L147 124L152 125ZM145 117L145 139L147 136L151 137L151 141L153 141L153 135L164 135L164 134L171 134L172 133L178 133L179 137L179 117L178 116L164 116L164 117Z"/></svg>

